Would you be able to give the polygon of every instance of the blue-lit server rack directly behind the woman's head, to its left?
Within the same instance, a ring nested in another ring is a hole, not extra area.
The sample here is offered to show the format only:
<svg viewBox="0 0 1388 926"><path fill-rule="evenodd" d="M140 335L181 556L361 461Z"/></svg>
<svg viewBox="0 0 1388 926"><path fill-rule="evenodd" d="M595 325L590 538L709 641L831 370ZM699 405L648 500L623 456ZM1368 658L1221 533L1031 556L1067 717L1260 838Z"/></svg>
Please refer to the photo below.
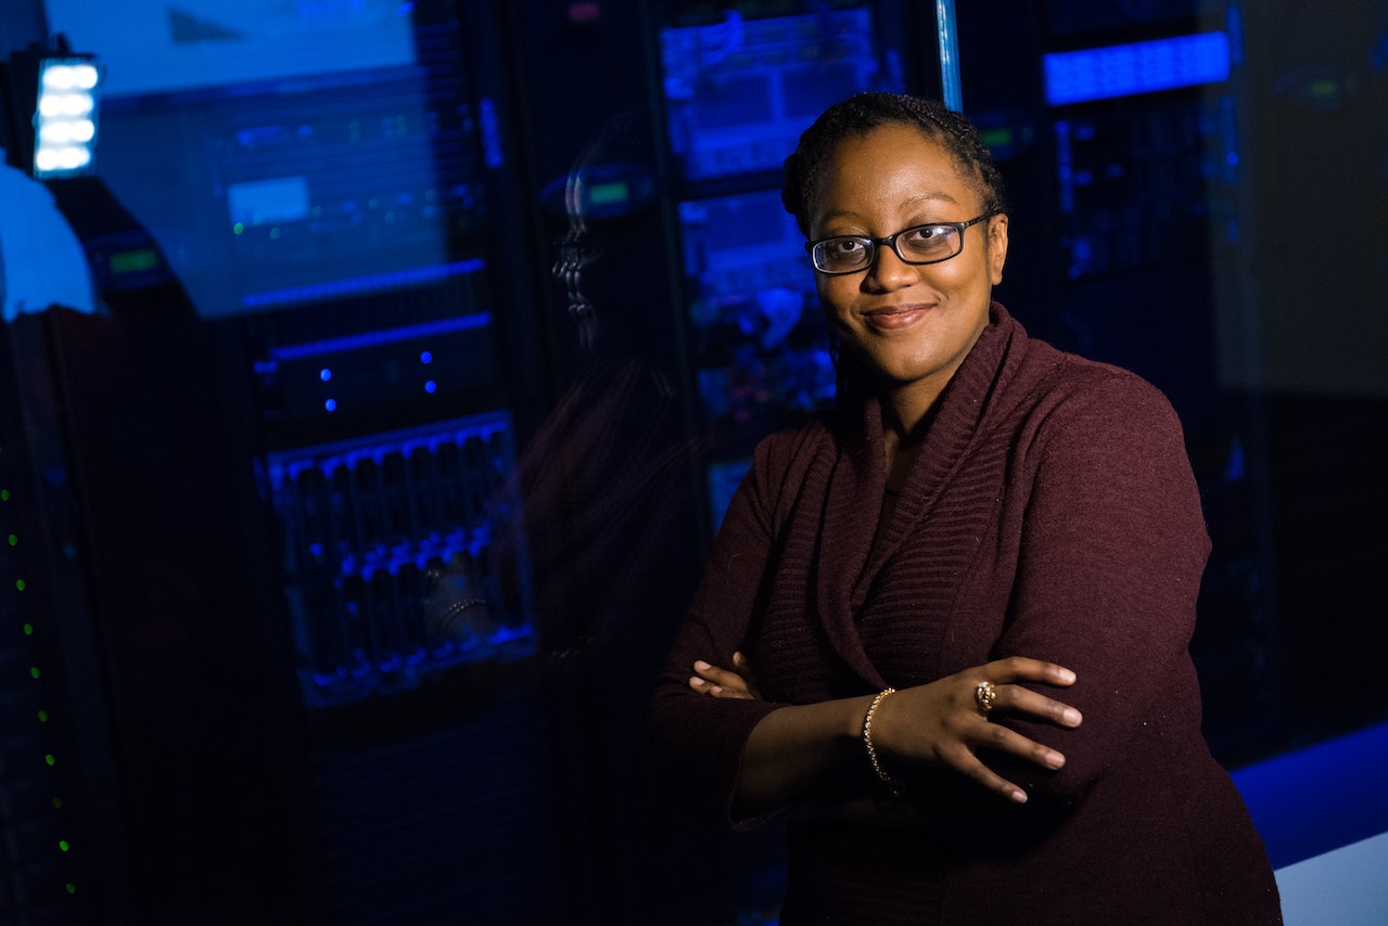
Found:
<svg viewBox="0 0 1388 926"><path fill-rule="evenodd" d="M709 528L756 439L833 402L813 273L780 202L781 164L830 103L940 93L933 10L895 3L655 3L677 324Z"/></svg>

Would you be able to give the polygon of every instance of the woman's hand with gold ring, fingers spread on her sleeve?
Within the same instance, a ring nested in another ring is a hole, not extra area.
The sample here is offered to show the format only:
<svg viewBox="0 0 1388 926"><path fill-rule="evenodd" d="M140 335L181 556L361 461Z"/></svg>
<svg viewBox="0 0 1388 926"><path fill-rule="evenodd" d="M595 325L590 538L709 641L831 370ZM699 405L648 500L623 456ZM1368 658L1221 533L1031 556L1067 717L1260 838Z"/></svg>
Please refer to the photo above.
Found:
<svg viewBox="0 0 1388 926"><path fill-rule="evenodd" d="M980 683L992 683L991 708L977 697ZM980 750L1005 753L1042 768L1058 769L1065 755L990 721L992 714L1049 721L1073 729L1080 711L1020 682L1069 688L1074 672L1041 660L1012 656L956 675L901 689L881 699L872 718L872 742L888 761L952 768L1019 804L1027 794L979 758Z"/></svg>

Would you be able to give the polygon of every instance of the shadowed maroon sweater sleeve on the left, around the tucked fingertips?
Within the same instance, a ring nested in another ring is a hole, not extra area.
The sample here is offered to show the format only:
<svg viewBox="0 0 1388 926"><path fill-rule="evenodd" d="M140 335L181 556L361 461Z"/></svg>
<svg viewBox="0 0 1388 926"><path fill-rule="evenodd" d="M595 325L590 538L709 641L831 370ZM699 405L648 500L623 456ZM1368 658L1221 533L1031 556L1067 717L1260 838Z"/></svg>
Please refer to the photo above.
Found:
<svg viewBox="0 0 1388 926"><path fill-rule="evenodd" d="M662 798L738 828L731 800L743 747L777 704L715 699L690 690L694 661L727 668L744 647L772 567L773 506L784 478L773 475L773 441L763 441L729 503L670 654L657 678L650 711L655 786Z"/></svg>

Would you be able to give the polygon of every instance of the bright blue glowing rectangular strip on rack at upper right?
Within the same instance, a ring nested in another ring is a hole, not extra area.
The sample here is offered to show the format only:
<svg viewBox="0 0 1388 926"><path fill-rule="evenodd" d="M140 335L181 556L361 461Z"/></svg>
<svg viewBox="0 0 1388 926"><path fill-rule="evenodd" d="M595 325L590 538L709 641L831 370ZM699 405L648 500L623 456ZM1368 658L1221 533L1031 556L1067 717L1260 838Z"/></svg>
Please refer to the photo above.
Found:
<svg viewBox="0 0 1388 926"><path fill-rule="evenodd" d="M1044 55L1051 105L1112 100L1227 80L1228 36L1202 32L1174 39L1059 51Z"/></svg>

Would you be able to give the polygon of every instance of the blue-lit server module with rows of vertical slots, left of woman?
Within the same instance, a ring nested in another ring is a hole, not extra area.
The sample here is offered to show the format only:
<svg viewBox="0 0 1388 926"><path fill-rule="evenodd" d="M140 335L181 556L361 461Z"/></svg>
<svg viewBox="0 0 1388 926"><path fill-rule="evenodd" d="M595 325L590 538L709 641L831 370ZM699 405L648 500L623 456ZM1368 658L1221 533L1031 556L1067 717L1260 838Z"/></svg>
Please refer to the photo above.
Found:
<svg viewBox="0 0 1388 926"><path fill-rule="evenodd" d="M268 459L305 704L534 650L514 467L505 412Z"/></svg>

